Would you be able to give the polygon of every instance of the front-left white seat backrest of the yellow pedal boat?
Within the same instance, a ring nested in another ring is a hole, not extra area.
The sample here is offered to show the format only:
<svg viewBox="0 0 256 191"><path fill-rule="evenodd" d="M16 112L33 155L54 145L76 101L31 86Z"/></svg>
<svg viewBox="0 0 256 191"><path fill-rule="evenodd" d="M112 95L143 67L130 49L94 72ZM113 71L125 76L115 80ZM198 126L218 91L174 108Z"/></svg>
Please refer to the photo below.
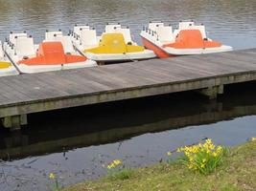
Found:
<svg viewBox="0 0 256 191"><path fill-rule="evenodd" d="M83 48L98 45L96 30L82 30L81 45Z"/></svg>

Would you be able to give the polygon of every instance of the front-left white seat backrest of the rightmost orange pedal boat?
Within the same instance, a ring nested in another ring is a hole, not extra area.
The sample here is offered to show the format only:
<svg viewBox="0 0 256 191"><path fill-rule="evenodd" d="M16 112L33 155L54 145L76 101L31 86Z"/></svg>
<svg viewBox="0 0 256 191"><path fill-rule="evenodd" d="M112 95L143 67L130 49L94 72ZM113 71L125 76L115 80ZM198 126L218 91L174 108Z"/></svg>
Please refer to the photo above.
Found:
<svg viewBox="0 0 256 191"><path fill-rule="evenodd" d="M172 26L159 26L156 28L158 40L165 43L175 42L175 35Z"/></svg>

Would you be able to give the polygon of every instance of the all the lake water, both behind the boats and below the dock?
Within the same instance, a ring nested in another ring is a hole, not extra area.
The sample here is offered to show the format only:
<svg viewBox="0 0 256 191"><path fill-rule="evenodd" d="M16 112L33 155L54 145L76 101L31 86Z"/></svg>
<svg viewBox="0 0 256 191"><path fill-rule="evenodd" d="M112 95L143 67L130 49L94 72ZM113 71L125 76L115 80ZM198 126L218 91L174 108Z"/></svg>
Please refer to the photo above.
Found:
<svg viewBox="0 0 256 191"><path fill-rule="evenodd" d="M121 22L138 43L150 20L175 26L194 19L236 50L256 47L254 0L0 0L0 18L1 39L27 31L40 42L47 29L68 32L89 23L100 33L105 23ZM29 116L21 132L0 131L0 190L47 190L50 172L63 185L95 179L112 159L143 166L203 138L227 146L245 142L256 136L255 86L227 87L218 101L184 93Z"/></svg>

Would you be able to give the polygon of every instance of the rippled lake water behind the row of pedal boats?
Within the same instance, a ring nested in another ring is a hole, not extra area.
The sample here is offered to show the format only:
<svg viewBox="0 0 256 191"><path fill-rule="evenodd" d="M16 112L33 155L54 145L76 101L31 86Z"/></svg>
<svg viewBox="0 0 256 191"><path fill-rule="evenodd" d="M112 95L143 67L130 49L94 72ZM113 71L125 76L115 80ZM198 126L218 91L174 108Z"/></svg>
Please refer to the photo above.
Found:
<svg viewBox="0 0 256 191"><path fill-rule="evenodd" d="M68 32L74 24L90 24L103 32L107 22L129 26L139 43L139 32L151 20L174 26L194 19L206 26L208 35L235 49L255 47L255 0L0 0L0 36L27 31L36 42L45 30Z"/></svg>

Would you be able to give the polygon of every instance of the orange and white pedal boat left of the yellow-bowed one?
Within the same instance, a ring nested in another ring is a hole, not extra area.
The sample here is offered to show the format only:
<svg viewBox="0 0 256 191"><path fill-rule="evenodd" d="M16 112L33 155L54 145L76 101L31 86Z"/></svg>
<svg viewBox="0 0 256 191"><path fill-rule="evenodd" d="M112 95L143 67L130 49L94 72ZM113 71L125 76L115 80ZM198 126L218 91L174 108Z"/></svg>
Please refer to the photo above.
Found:
<svg viewBox="0 0 256 191"><path fill-rule="evenodd" d="M95 61L85 56L65 53L64 45L60 40L44 41L35 45L33 38L24 33L22 35L12 33L12 35L15 37L10 38L10 42L6 43L4 48L21 73L32 74L97 66Z"/></svg>

